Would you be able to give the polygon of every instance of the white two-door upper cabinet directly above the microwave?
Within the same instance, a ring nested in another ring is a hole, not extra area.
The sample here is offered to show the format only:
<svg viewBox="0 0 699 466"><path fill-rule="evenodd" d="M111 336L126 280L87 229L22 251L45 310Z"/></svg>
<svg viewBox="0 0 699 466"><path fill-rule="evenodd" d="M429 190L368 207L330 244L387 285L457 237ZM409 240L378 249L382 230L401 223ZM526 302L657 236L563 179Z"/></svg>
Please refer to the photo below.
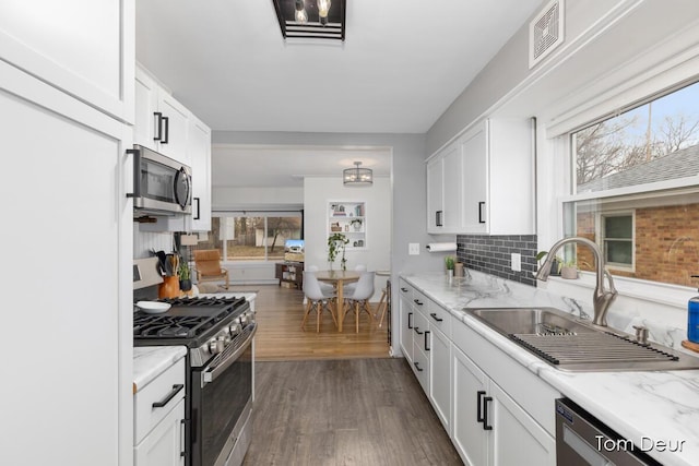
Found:
<svg viewBox="0 0 699 466"><path fill-rule="evenodd" d="M191 165L187 152L190 111L143 69L135 69L137 144L150 147L183 165Z"/></svg>

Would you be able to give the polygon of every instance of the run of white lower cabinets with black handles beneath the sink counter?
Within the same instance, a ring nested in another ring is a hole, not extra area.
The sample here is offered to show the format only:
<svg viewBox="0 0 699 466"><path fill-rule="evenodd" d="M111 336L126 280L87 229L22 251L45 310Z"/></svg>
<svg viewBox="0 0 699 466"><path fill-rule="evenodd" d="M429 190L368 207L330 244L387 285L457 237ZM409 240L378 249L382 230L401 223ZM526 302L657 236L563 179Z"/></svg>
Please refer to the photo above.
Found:
<svg viewBox="0 0 699 466"><path fill-rule="evenodd" d="M403 279L400 310L403 353L464 464L556 464L556 390Z"/></svg>

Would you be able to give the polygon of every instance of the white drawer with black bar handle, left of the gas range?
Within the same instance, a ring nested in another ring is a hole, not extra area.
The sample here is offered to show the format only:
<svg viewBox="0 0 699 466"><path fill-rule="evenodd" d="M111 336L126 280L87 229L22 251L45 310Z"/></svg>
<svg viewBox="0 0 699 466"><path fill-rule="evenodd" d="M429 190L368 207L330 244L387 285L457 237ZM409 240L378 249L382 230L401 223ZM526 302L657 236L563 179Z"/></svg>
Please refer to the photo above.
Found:
<svg viewBox="0 0 699 466"><path fill-rule="evenodd" d="M180 385L181 389L177 391ZM176 391L177 393L170 397ZM185 398L185 358L175 362L133 395L134 444L141 442L182 398ZM153 406L165 401L167 403L162 407Z"/></svg>

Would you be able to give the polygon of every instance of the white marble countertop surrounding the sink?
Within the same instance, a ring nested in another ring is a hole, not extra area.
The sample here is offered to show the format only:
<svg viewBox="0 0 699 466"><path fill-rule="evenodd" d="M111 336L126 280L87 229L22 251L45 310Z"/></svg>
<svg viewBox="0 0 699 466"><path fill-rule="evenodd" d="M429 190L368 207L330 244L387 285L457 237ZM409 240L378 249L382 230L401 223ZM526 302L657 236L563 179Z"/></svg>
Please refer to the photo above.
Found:
<svg viewBox="0 0 699 466"><path fill-rule="evenodd" d="M664 465L699 464L698 370L577 373L557 370L461 309L541 306L578 316L591 315L591 309L544 289L469 272L471 277L451 282L445 274L407 274L401 278L631 440L636 449L648 449L645 453Z"/></svg>

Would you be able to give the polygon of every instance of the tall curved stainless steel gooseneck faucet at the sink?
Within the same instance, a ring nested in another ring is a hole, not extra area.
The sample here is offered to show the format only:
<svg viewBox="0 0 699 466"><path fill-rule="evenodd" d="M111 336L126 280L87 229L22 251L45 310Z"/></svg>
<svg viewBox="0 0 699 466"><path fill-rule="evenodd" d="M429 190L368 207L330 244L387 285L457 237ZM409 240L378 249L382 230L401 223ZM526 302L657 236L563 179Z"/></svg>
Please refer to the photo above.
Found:
<svg viewBox="0 0 699 466"><path fill-rule="evenodd" d="M536 273L536 279L546 282L548 278L548 274L550 273L550 265L554 259L556 258L556 252L564 246L570 242L578 242L581 244L588 246L592 249L594 253L594 260L596 262L596 274L597 274L597 284L594 288L594 294L592 295L592 304L594 308L594 319L592 319L592 323L600 326L607 326L607 310L609 309L609 304L616 298L617 290L614 287L614 280L612 279L612 274L607 272L604 266L604 259L602 256L602 251L597 244L593 241L590 241L588 238L582 238L578 236L573 236L570 238L564 238L560 241L556 242L550 247L548 254L546 254L546 260L542 264L541 268ZM604 287L604 276L607 276L609 282L609 289L605 289Z"/></svg>

